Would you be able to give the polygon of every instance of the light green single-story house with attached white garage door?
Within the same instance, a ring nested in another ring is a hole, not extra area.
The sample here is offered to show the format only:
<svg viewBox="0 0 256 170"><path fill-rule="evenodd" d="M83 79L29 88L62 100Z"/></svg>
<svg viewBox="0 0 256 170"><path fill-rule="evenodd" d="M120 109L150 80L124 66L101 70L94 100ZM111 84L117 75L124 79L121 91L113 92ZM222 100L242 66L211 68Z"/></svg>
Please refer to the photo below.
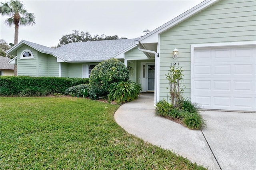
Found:
<svg viewBox="0 0 256 170"><path fill-rule="evenodd" d="M256 112L255 0L205 0L139 39L57 49L22 40L7 53L30 76L88 77L100 61L120 59L155 103L168 96L170 66L181 67L184 95L202 108Z"/></svg>

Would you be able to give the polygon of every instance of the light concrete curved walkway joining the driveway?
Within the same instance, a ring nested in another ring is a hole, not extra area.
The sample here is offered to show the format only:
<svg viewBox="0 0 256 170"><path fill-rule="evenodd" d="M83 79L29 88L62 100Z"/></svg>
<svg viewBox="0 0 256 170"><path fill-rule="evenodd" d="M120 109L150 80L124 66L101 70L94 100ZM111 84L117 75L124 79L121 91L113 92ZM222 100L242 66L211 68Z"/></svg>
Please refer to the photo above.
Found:
<svg viewBox="0 0 256 170"><path fill-rule="evenodd" d="M173 150L192 162L216 170L256 169L256 114L204 111L207 128L188 128L155 115L154 95L143 93L122 105L116 122L130 134Z"/></svg>

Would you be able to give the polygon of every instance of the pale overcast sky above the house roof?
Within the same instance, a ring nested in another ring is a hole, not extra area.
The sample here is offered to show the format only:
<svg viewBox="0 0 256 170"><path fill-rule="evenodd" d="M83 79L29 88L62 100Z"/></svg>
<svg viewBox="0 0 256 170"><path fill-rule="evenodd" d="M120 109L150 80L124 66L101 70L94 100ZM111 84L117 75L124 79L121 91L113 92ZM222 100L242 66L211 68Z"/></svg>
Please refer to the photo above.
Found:
<svg viewBox="0 0 256 170"><path fill-rule="evenodd" d="M20 26L19 38L52 47L72 30L119 38L138 38L143 31L155 30L204 0L23 0L36 25ZM0 0L5 2L5 0ZM14 43L14 26L0 17L0 39Z"/></svg>

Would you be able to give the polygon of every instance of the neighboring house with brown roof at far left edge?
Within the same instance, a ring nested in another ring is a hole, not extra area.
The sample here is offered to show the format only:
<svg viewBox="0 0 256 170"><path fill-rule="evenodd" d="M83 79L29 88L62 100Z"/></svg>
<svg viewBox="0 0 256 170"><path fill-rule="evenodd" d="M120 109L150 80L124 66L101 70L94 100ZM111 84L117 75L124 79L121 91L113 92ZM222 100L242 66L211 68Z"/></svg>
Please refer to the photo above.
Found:
<svg viewBox="0 0 256 170"><path fill-rule="evenodd" d="M11 59L0 56L0 75L14 75L14 65L8 63Z"/></svg>

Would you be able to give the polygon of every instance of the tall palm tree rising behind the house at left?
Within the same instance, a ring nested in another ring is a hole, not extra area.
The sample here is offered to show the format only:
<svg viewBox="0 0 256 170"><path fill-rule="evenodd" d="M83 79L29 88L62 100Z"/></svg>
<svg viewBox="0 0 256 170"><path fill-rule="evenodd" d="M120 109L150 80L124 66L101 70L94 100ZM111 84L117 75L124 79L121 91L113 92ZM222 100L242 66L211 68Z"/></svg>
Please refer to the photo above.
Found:
<svg viewBox="0 0 256 170"><path fill-rule="evenodd" d="M14 25L14 45L18 43L19 25L32 26L36 24L34 14L28 13L19 0L0 2L0 14L1 16L10 16L4 22L9 26Z"/></svg>

